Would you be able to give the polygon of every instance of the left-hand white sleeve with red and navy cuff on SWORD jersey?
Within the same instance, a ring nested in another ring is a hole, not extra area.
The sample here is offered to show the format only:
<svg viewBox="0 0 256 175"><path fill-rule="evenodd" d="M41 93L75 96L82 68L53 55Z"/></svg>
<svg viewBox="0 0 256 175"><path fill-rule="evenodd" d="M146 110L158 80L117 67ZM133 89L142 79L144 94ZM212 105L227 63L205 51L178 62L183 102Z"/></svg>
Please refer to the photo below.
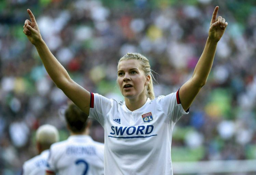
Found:
<svg viewBox="0 0 256 175"><path fill-rule="evenodd" d="M89 117L96 119L104 128L104 117L111 109L111 100L97 93L91 93Z"/></svg>

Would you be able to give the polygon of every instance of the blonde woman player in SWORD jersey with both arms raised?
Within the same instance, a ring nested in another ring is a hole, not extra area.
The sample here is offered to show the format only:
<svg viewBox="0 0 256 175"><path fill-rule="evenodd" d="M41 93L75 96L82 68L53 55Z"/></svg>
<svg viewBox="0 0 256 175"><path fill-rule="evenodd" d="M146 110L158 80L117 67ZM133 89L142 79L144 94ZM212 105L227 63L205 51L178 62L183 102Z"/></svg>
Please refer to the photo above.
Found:
<svg viewBox="0 0 256 175"><path fill-rule="evenodd" d="M118 62L117 82L124 102L90 93L76 84L43 41L34 15L25 21L24 33L35 45L54 83L82 111L100 122L105 130L105 175L171 175L172 129L206 83L218 41L228 23L217 17L216 6L209 36L193 76L174 93L154 97L148 60L128 53ZM182 50L181 50L182 52Z"/></svg>

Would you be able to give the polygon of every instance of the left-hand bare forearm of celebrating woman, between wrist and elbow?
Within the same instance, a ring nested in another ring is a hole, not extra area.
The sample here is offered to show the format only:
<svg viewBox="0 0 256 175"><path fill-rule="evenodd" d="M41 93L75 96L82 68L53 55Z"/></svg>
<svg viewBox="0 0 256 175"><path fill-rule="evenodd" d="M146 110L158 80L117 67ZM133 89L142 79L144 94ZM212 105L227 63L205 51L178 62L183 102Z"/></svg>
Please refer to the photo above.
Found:
<svg viewBox="0 0 256 175"><path fill-rule="evenodd" d="M44 67L52 78L54 83L61 88L65 86L65 82L70 80L70 76L66 69L60 64L60 62L55 58L55 56L51 53L43 39L41 39L37 44L35 44L35 48L44 64Z"/></svg>

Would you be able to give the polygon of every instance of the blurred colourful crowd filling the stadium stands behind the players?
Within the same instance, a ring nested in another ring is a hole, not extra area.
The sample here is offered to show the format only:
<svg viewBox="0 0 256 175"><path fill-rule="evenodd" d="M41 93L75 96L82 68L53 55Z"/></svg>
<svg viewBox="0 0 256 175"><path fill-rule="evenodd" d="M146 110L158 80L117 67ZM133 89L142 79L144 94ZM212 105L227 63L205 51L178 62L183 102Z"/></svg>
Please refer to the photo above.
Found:
<svg viewBox="0 0 256 175"><path fill-rule="evenodd" d="M37 153L35 130L68 136L67 97L23 34L29 8L42 37L75 82L122 100L117 60L139 52L156 72L156 96L179 89L208 36L212 11L228 27L213 68L188 115L174 127L173 161L256 159L256 3L239 0L4 0L0 2L0 175L16 175ZM93 65L93 66L92 66ZM113 91L113 89L115 89ZM114 92L114 93L113 93ZM95 122L94 140L104 142Z"/></svg>

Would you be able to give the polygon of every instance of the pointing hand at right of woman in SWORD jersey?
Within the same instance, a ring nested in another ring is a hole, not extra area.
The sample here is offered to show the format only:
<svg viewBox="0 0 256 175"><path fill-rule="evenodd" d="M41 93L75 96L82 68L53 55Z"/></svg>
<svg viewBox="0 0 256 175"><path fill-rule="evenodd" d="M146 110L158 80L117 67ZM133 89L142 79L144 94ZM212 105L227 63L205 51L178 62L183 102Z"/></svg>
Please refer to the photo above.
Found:
<svg viewBox="0 0 256 175"><path fill-rule="evenodd" d="M209 29L209 39L215 42L218 42L221 39L228 25L225 18L218 16L218 18L216 19L218 9L219 9L218 6L216 6L214 9L214 12L212 14L212 20L210 23L210 29Z"/></svg>

